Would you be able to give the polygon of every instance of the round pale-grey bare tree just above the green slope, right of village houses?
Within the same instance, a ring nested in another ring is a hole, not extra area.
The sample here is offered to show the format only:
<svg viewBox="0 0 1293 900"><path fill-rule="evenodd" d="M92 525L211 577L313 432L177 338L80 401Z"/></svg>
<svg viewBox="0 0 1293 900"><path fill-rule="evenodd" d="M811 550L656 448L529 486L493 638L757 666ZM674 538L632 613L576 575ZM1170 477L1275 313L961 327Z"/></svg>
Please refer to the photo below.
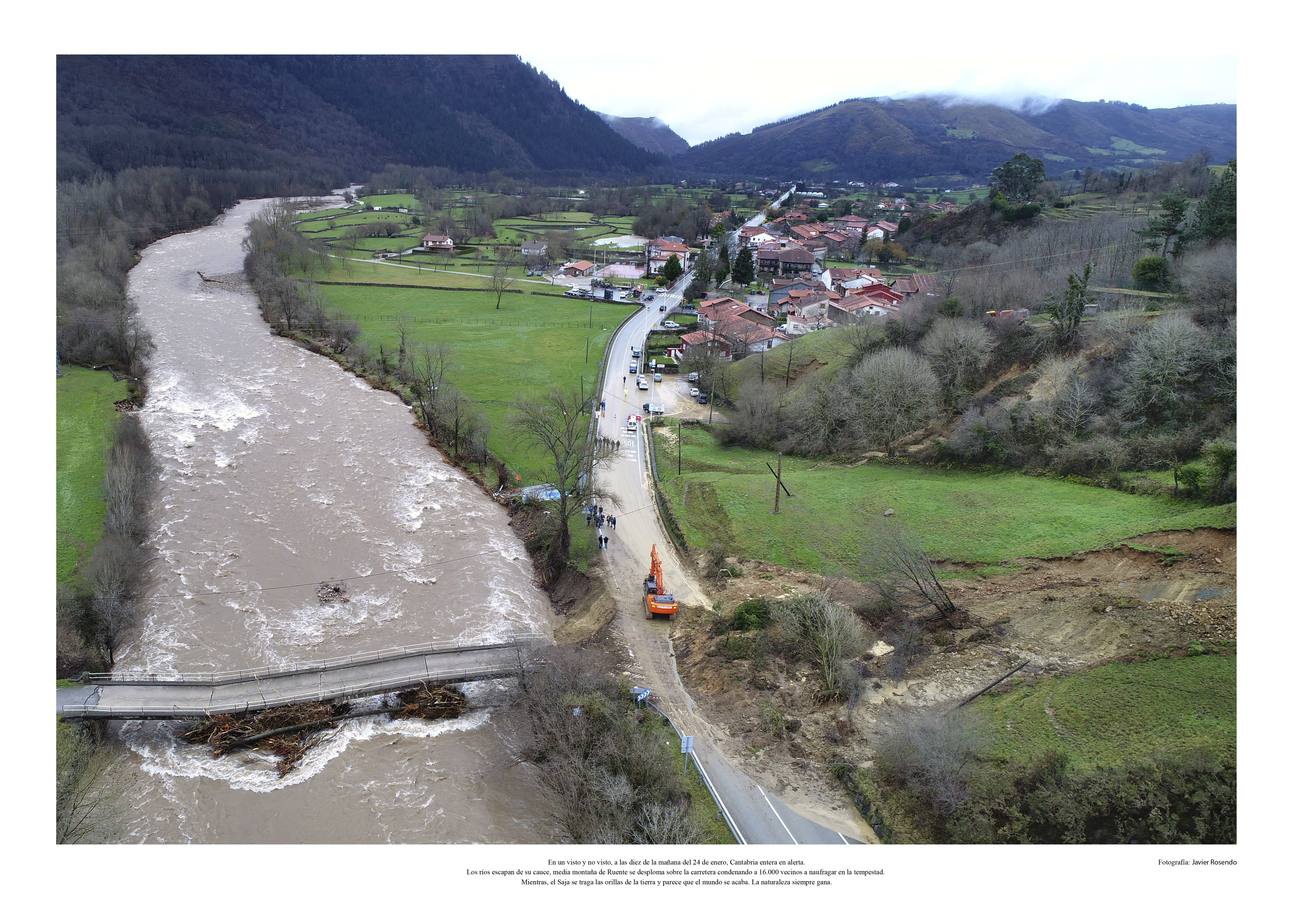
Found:
<svg viewBox="0 0 1293 900"><path fill-rule="evenodd" d="M930 363L912 350L888 348L873 353L851 376L851 388L865 398L860 415L866 440L895 455L899 438L928 423L934 415L939 379Z"/></svg>

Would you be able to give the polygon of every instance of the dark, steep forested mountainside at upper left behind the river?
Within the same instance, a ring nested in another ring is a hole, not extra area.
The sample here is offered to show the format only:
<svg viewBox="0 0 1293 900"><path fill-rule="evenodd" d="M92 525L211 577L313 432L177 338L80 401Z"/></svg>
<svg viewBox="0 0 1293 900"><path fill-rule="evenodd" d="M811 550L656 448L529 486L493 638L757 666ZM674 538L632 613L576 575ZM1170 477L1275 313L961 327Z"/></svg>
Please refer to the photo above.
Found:
<svg viewBox="0 0 1293 900"><path fill-rule="evenodd" d="M625 173L658 158L512 56L58 61L58 173L146 166L363 177L388 163Z"/></svg>

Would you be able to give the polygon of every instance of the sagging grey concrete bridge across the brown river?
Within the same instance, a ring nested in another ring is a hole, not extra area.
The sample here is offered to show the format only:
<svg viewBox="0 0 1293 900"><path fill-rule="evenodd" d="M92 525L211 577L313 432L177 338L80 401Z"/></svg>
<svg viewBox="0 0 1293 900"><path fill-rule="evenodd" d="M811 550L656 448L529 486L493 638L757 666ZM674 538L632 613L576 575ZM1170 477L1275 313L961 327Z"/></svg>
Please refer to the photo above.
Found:
<svg viewBox="0 0 1293 900"><path fill-rule="evenodd" d="M422 683L478 681L516 675L526 643L393 650L250 674L96 675L59 688L58 715L69 719L190 719L318 700L347 700Z"/></svg>

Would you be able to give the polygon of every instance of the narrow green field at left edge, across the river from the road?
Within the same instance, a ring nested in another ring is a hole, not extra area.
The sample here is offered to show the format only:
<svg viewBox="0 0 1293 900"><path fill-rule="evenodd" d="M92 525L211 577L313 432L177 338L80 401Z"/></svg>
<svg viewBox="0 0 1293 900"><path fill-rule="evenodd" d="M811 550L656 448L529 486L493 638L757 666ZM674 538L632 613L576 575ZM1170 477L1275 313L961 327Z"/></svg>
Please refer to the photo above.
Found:
<svg viewBox="0 0 1293 900"><path fill-rule="evenodd" d="M125 381L114 381L109 372L65 366L57 381L54 517L59 583L74 578L103 530L103 466L118 416L112 403L119 400L125 400Z"/></svg>

